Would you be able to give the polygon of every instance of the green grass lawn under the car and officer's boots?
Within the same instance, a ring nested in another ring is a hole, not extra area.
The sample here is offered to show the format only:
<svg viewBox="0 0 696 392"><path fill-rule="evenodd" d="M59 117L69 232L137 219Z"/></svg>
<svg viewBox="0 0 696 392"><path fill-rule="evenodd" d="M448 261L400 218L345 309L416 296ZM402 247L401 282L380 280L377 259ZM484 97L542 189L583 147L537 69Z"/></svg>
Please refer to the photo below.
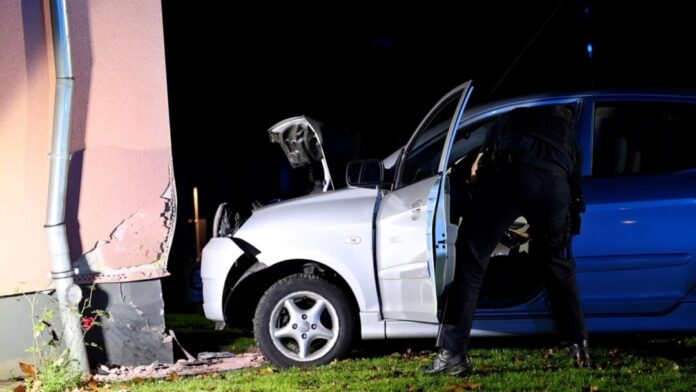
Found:
<svg viewBox="0 0 696 392"><path fill-rule="evenodd" d="M168 318L191 351L248 348L242 331L211 331L200 316ZM183 325L186 325L186 328ZM201 329L204 328L204 329ZM187 344L198 341L193 347ZM696 337L591 336L593 369L575 369L553 337L474 339L473 375L426 376L433 340L367 342L349 359L311 369L257 369L112 385L127 391L696 391ZM215 348L217 347L217 348Z"/></svg>

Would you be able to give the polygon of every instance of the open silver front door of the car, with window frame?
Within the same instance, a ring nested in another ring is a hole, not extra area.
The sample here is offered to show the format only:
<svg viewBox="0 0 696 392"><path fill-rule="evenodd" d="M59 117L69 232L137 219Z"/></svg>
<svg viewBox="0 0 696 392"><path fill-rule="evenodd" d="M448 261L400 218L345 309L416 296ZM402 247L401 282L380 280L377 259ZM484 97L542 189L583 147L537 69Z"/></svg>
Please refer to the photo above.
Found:
<svg viewBox="0 0 696 392"><path fill-rule="evenodd" d="M376 217L377 275L385 319L436 323L454 277L457 227L449 220L447 162L471 81L445 95L409 140L394 190Z"/></svg>

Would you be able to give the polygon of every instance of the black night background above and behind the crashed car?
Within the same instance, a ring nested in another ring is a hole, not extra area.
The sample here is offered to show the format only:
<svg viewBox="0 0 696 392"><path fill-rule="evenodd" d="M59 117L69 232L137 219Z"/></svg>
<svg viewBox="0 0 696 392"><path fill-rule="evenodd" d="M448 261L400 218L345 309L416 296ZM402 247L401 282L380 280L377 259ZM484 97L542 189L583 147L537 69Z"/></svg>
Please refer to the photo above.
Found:
<svg viewBox="0 0 696 392"><path fill-rule="evenodd" d="M287 163L266 133L284 118L349 128L363 157L383 158L468 79L472 105L544 91L696 87L696 22L682 2L329 3L163 1L178 193L170 309L191 299L182 287L195 261L192 188L208 233L223 201L248 210L284 196Z"/></svg>

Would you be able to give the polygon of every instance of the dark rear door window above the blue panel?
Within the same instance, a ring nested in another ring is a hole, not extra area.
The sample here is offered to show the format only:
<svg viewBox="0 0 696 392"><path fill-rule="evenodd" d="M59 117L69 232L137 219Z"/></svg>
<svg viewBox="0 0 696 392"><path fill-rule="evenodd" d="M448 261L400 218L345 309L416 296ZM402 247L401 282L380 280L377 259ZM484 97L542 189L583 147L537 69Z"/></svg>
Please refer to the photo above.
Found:
<svg viewBox="0 0 696 392"><path fill-rule="evenodd" d="M617 102L595 106L592 175L666 173L696 168L690 136L696 106Z"/></svg>

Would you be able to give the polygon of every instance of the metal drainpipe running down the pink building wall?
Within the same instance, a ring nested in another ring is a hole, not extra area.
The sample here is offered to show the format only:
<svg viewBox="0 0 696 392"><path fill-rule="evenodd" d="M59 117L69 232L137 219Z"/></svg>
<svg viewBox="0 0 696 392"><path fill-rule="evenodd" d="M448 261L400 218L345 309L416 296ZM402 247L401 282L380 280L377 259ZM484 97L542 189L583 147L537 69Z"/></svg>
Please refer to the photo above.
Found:
<svg viewBox="0 0 696 392"><path fill-rule="evenodd" d="M58 297L58 309L63 321L63 343L69 350L77 370L89 372L87 351L80 325L77 305L82 290L75 284L68 236L65 230L65 198L70 164L70 115L72 108L73 73L70 58L70 31L65 0L50 0L53 57L56 65L56 97L53 113L51 172L48 187L48 207L44 229L51 255L51 277Z"/></svg>

